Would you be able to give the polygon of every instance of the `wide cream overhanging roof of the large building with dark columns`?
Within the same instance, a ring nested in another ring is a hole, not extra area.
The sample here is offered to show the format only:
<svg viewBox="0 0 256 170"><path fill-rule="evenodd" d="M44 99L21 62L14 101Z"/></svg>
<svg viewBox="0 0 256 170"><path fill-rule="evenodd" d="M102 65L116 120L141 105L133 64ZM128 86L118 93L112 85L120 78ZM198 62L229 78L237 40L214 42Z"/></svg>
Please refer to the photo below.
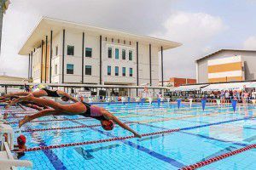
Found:
<svg viewBox="0 0 256 170"><path fill-rule="evenodd" d="M30 36L26 39L26 42L20 48L20 55L30 54L33 48L37 48L42 40L45 39L45 36L50 35L50 31L53 31L53 37L58 34L63 29L73 30L77 33L79 32L92 32L96 35L102 35L102 37L112 37L116 39L124 39L131 42L140 42L140 43L151 43L157 47L163 47L164 50L170 48L177 48L182 44L179 42L172 42L156 37L147 37L135 35L123 31L113 31L106 28L100 28L96 26L87 26L84 24L73 23L65 20L55 20L48 17L43 17L39 20L37 26L30 33Z"/></svg>

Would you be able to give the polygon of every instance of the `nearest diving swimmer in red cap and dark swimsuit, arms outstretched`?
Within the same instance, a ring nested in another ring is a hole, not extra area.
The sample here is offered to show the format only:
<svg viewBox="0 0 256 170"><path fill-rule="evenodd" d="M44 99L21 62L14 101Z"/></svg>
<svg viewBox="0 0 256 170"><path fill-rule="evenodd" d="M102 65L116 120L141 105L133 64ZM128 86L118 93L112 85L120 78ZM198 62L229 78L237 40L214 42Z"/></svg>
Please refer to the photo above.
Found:
<svg viewBox="0 0 256 170"><path fill-rule="evenodd" d="M80 115L85 117L91 117L100 121L102 127L105 130L112 130L114 127L113 122L115 122L119 124L120 127L123 127L125 130L128 130L131 133L133 133L136 137L138 138L142 137L142 135L132 130L131 127L128 127L127 125L125 125L125 123L119 121L119 119L116 116L113 116L113 114L111 114L109 111L105 110L102 107L98 107L96 105L89 105L85 102L76 102L69 105L61 105L60 103L57 103L51 99L36 98L32 94L16 99L14 102L11 103L11 105L15 105L15 103L21 102L21 101L30 101L35 104L46 105L51 107L52 109L45 109L44 111L39 111L34 115L25 116L22 120L20 120L19 127L21 127L26 122L30 122L33 119L36 119L42 116Z"/></svg>

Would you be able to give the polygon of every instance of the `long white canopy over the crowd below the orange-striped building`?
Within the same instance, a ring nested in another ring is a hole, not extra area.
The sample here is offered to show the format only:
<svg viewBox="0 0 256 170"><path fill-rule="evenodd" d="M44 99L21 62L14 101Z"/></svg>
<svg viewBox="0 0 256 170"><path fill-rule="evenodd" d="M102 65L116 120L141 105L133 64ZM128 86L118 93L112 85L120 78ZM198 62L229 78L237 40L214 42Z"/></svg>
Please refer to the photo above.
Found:
<svg viewBox="0 0 256 170"><path fill-rule="evenodd" d="M209 91L221 91L221 90L242 90L247 88L247 85L250 82L230 82L230 83L217 83L210 84L206 88L201 88L201 91L209 92Z"/></svg>

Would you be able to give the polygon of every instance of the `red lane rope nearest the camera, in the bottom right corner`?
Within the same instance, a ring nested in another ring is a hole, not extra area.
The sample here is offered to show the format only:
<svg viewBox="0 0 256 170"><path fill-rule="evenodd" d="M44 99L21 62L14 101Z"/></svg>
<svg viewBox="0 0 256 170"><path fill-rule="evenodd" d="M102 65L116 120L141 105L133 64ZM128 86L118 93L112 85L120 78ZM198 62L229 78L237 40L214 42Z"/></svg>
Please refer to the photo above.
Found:
<svg viewBox="0 0 256 170"><path fill-rule="evenodd" d="M220 161L220 160L223 160L227 157L230 157L230 156L235 156L236 154L239 154L241 152L244 152L244 151L247 151L247 150L252 150L252 149L255 149L256 148L256 144L250 144L250 145L247 145L246 147L243 147L239 150L234 150L234 151L230 151L228 153L225 153L225 154L222 154L220 156L215 156L215 157L212 157L210 159L207 159L206 161L199 161L193 165L189 165L187 167L182 167L181 169L182 170L193 170L193 169L196 169L196 168L199 168L199 167L204 167L204 166L207 166L215 161Z"/></svg>

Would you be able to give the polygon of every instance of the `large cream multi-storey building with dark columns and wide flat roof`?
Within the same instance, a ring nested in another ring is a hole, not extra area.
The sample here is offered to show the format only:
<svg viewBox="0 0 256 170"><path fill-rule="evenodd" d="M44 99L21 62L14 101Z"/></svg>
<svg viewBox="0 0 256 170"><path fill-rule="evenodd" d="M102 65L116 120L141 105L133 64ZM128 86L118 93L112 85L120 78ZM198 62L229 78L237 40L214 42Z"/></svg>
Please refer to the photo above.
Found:
<svg viewBox="0 0 256 170"><path fill-rule="evenodd" d="M44 17L19 54L29 56L33 82L157 86L159 57L180 45Z"/></svg>

